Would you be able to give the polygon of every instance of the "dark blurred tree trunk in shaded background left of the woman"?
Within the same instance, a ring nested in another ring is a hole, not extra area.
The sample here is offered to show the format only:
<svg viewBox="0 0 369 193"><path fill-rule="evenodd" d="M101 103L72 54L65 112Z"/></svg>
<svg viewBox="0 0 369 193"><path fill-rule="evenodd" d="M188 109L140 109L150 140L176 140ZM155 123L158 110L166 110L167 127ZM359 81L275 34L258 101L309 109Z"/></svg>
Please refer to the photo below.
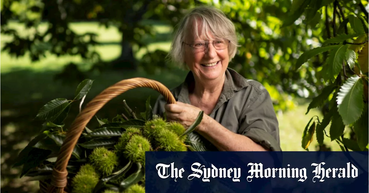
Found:
<svg viewBox="0 0 369 193"><path fill-rule="evenodd" d="M124 34L122 33L121 54L120 56L112 62L113 69L117 70L136 70L137 61L133 56L132 46L130 42L126 40Z"/></svg>

